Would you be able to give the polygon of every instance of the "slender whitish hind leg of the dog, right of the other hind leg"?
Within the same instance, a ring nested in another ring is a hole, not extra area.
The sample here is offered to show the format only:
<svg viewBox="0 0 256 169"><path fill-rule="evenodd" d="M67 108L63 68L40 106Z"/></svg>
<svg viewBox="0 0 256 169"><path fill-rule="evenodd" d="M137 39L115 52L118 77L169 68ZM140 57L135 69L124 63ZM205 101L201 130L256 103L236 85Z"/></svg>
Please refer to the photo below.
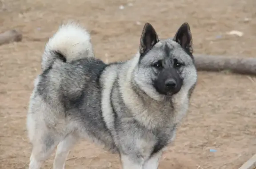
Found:
<svg viewBox="0 0 256 169"><path fill-rule="evenodd" d="M64 140L60 141L57 146L56 155L54 159L53 169L64 169L66 158L70 149L76 144L77 138L72 134L69 134Z"/></svg>

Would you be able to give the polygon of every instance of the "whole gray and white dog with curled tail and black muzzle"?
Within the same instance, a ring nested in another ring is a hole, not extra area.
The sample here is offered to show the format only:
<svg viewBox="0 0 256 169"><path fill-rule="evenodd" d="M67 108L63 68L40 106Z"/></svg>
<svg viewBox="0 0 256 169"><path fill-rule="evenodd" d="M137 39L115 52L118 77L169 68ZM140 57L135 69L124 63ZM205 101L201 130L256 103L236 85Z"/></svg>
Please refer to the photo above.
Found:
<svg viewBox="0 0 256 169"><path fill-rule="evenodd" d="M111 64L94 56L86 29L61 25L46 44L30 98L29 169L40 169L56 145L53 168L64 169L80 138L119 153L123 169L157 169L196 81L187 23L164 40L146 23L137 54Z"/></svg>

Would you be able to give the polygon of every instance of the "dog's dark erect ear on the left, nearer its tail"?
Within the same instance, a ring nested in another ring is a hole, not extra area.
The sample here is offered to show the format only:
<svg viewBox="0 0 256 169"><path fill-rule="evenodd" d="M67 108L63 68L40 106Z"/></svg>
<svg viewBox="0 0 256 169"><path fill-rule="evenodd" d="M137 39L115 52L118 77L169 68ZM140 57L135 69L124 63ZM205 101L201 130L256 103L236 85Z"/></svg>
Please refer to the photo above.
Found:
<svg viewBox="0 0 256 169"><path fill-rule="evenodd" d="M155 29L151 24L146 23L140 38L140 55L150 50L158 41Z"/></svg>

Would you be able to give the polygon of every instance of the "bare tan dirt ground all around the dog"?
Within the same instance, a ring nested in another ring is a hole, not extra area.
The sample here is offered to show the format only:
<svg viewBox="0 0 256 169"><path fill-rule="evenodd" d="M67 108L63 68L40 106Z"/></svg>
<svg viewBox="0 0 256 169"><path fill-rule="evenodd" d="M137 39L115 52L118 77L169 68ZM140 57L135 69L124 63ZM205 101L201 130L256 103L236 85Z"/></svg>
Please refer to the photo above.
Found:
<svg viewBox="0 0 256 169"><path fill-rule="evenodd" d="M15 28L24 39L0 46L0 169L28 168L28 99L44 44L63 21L78 20L88 28L96 56L106 62L136 53L145 22L160 38L173 37L188 22L196 54L256 57L255 8L256 0L1 0L0 32ZM232 30L244 35L226 35ZM160 169L239 168L256 153L255 101L256 78L199 72L189 114ZM43 168L52 162L53 154ZM66 168L119 169L120 161L83 141L69 154Z"/></svg>

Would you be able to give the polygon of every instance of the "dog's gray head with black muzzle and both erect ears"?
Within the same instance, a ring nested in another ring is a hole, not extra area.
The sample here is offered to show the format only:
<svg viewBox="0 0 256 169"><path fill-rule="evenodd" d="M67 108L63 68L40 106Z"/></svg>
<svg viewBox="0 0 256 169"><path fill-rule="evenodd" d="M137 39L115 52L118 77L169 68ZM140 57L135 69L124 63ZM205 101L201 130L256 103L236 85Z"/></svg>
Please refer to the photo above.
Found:
<svg viewBox="0 0 256 169"><path fill-rule="evenodd" d="M160 40L146 23L140 39L135 82L148 95L172 96L195 86L197 74L193 60L189 25L180 26L173 39Z"/></svg>

